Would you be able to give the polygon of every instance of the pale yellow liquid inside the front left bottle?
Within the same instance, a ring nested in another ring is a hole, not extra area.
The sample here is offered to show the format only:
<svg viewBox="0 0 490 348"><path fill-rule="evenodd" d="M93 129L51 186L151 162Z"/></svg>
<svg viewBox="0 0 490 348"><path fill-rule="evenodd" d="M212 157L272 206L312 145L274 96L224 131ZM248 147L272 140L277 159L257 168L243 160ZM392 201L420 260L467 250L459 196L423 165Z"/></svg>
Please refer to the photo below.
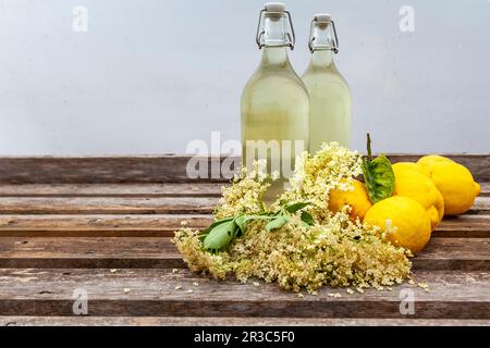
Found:
<svg viewBox="0 0 490 348"><path fill-rule="evenodd" d="M279 164L280 179L272 183L264 200L273 201L283 191L287 173L283 167L294 170L294 160L299 156L294 141L303 140L304 150L308 149L309 99L301 78L293 71L284 47L266 47L259 69L252 76L242 95L242 144L243 164L250 167L247 158L254 151L253 159L258 159L258 151L247 146L247 140L291 140L291 152L267 151L268 171L274 170L271 163ZM277 167L275 167L277 169Z"/></svg>

